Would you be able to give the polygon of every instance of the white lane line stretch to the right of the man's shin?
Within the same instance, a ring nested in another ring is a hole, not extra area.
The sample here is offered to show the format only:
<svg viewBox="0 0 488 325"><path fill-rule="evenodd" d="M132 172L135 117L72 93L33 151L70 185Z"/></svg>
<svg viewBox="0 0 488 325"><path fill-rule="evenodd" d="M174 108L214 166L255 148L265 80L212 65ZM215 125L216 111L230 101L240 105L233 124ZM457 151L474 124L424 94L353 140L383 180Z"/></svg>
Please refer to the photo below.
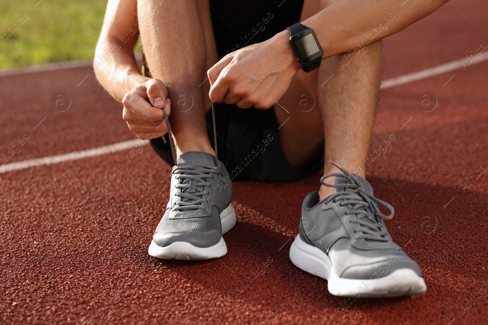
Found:
<svg viewBox="0 0 488 325"><path fill-rule="evenodd" d="M406 84L406 83L409 83L412 81L417 81L417 80L425 79L425 78L428 78L431 76L441 75L441 74L449 72L449 71L461 69L464 66L481 63L481 62L486 61L486 60L488 60L488 52L481 53L480 55L475 57L473 61L468 61L467 58L461 58L459 60L455 60L455 61L451 61L448 63L436 65L435 67L428 68L428 69L421 70L421 71L417 71L417 72L414 72L414 73L411 73L408 75L399 76L399 77L391 78L388 80L383 80L381 82L381 88L385 89L385 88L400 86L400 85L403 85L403 84Z"/></svg>

